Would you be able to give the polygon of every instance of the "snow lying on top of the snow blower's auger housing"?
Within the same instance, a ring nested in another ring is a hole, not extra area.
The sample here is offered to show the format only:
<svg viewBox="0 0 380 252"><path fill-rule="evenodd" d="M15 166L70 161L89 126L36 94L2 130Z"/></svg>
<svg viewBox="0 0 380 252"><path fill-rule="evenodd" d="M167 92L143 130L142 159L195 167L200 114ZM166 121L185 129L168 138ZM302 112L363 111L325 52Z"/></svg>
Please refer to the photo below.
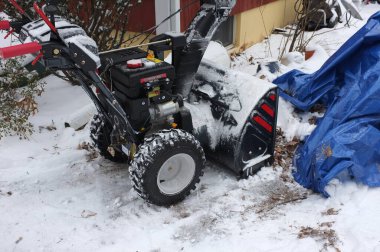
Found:
<svg viewBox="0 0 380 252"><path fill-rule="evenodd" d="M215 90L218 90L219 96L222 97L220 101L229 107L229 114L237 123L235 127L231 127L228 124L224 125L221 120L214 119L208 101L201 100L196 104L185 104L191 112L194 131L196 134L201 134L206 126L209 147L215 149L221 140L240 136L256 104L269 90L275 88L275 85L248 73L221 67L207 59L203 59L202 62L198 69L195 85L199 85L198 90L210 98L214 98ZM213 86L210 83L216 84ZM231 83L233 85L230 85ZM216 98L220 98L219 96Z"/></svg>

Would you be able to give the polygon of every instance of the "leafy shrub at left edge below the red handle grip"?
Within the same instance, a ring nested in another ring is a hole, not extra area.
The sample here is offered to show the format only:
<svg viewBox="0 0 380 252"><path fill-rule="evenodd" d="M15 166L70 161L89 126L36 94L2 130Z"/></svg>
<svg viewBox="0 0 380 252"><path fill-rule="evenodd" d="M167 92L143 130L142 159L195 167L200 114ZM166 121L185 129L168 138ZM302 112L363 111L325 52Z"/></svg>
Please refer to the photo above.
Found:
<svg viewBox="0 0 380 252"><path fill-rule="evenodd" d="M37 112L34 98L44 84L36 72L28 72L16 59L0 62L0 139L17 135L28 138L33 133L29 117Z"/></svg>

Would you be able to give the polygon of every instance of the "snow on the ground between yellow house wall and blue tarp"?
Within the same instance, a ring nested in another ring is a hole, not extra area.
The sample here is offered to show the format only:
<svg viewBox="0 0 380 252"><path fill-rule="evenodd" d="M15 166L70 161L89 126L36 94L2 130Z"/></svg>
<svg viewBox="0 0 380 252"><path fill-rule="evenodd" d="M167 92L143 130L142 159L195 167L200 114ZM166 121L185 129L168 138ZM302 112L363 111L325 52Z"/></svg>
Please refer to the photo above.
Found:
<svg viewBox="0 0 380 252"><path fill-rule="evenodd" d="M378 10L378 6L373 4L361 5L359 3L359 5L358 9L360 10L360 14L365 17L363 21L351 19L349 24L347 24L345 12L343 12L343 22L339 23L334 29L325 28L315 33L307 33L305 40L311 36L313 37L309 47L311 47L310 49L317 49L316 54L307 61L302 60L297 53L291 53L290 56L285 54L284 57L290 57L291 62L286 62L282 65L281 71L277 75L281 75L293 69L299 69L307 73L318 70L327 58L335 53L340 45L357 32L366 23L366 20ZM239 71L256 73L258 67L258 64L256 64L257 61L280 61L280 55L288 39L287 35L288 34L272 34L270 39L265 39L262 43L248 48L232 62L233 67L239 69ZM287 48L289 45L290 42L287 43ZM249 64L247 64L248 59L250 59ZM266 74L269 80L273 80L277 77L270 73Z"/></svg>

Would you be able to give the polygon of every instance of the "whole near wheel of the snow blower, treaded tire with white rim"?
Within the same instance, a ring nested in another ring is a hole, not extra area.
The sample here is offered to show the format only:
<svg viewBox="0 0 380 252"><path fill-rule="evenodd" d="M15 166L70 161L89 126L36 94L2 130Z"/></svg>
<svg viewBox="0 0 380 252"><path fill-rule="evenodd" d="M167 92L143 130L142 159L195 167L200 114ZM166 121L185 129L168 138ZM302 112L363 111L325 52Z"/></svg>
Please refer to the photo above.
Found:
<svg viewBox="0 0 380 252"><path fill-rule="evenodd" d="M196 188L205 163L203 149L193 135L178 129L163 130L140 145L129 174L140 197L170 206Z"/></svg>

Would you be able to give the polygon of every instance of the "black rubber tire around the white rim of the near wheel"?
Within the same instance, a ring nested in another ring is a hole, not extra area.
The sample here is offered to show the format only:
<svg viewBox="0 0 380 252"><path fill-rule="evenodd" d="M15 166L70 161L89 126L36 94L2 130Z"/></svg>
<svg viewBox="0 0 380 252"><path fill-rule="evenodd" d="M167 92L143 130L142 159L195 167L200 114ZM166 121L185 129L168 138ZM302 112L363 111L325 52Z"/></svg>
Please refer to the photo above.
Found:
<svg viewBox="0 0 380 252"><path fill-rule="evenodd" d="M189 185L179 193L164 194L157 185L158 172L166 160L180 153L193 158L194 176ZM182 201L196 188L203 175L205 164L205 154L198 140L183 130L170 129L153 134L140 145L129 167L129 174L133 188L141 198L158 206L171 206Z"/></svg>

